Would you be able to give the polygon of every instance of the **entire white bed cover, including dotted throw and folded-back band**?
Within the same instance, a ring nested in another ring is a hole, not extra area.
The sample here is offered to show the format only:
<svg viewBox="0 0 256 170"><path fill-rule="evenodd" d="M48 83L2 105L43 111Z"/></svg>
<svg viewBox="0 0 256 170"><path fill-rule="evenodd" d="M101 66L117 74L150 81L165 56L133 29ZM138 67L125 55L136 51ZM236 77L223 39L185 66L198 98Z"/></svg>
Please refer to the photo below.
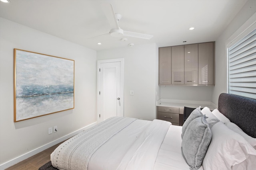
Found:
<svg viewBox="0 0 256 170"><path fill-rule="evenodd" d="M158 150L171 123L124 117L110 118L106 122L60 145L51 154L52 165L65 170L154 168Z"/></svg>

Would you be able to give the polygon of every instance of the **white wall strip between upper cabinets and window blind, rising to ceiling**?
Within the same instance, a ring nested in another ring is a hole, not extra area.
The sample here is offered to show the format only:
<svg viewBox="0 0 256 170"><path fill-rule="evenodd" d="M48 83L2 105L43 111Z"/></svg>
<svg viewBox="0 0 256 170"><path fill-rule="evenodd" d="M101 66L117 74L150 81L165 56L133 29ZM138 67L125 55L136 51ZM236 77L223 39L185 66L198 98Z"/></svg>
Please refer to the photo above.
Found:
<svg viewBox="0 0 256 170"><path fill-rule="evenodd" d="M218 97L226 93L227 88L227 54L226 43L230 36L239 29L254 13L256 13L256 0L248 0L236 17L231 21L225 31L215 43L216 76L215 87L212 91L212 102L218 104Z"/></svg>

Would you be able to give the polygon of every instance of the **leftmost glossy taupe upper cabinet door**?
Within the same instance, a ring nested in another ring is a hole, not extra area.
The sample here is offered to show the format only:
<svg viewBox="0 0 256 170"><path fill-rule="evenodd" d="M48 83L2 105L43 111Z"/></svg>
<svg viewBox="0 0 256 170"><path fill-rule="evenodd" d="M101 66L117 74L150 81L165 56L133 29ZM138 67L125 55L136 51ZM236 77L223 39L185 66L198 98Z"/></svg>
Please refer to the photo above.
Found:
<svg viewBox="0 0 256 170"><path fill-rule="evenodd" d="M159 48L159 84L171 84L171 47Z"/></svg>

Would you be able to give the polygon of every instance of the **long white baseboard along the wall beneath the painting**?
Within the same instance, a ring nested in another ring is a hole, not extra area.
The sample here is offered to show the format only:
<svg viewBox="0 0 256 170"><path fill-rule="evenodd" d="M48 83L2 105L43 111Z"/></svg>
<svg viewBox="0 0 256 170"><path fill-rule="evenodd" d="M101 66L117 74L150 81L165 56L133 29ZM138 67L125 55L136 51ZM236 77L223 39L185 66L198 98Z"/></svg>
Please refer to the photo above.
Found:
<svg viewBox="0 0 256 170"><path fill-rule="evenodd" d="M27 158L35 155L35 154L38 154L39 152L42 152L43 150L46 150L46 149L48 149L48 148L50 148L50 147L52 147L52 146L54 146L54 145L56 145L56 144L58 144L58 143L60 143L62 141L65 141L65 140L69 139L70 137L73 137L74 135L76 135L76 134L78 134L78 133L80 133L80 132L82 132L82 131L84 131L86 129L89 129L90 127L92 127L92 126L94 126L96 124L97 124L97 122L94 122L94 123L92 123L90 125L87 125L86 127L78 129L77 131L74 131L74 132L72 132L72 133L70 133L70 134L68 134L68 135L66 135L64 137L61 137L59 139L56 139L55 141L47 143L46 145L43 145L42 147L39 147L39 148L34 149L34 150L31 150L30 152L27 152L26 154L23 154L23 155L18 156L18 157L14 158L14 159L12 159L12 160L10 160L8 162L5 162L5 163L0 165L0 170L4 170L6 168L9 168L10 166L13 166L13 165L17 164L18 162L21 162L22 160L25 160L25 159L27 159Z"/></svg>

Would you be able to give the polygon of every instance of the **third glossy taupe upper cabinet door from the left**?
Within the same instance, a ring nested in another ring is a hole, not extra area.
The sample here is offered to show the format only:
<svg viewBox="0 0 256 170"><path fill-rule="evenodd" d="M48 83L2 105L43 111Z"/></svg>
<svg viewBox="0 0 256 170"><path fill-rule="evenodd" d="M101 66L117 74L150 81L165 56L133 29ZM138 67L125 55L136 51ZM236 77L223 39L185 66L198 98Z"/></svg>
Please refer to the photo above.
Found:
<svg viewBox="0 0 256 170"><path fill-rule="evenodd" d="M198 44L184 45L184 84L198 84Z"/></svg>

